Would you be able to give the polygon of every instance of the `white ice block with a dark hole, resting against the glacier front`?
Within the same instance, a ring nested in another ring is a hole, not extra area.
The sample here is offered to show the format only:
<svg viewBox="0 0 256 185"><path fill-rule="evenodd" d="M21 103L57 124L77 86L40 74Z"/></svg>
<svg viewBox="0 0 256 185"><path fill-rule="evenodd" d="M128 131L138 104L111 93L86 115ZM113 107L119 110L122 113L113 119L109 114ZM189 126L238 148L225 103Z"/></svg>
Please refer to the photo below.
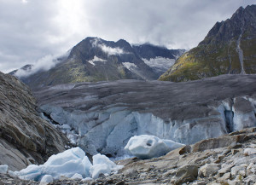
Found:
<svg viewBox="0 0 256 185"><path fill-rule="evenodd" d="M161 140L157 136L141 135L131 137L125 150L139 159L151 159L183 146L172 140Z"/></svg>

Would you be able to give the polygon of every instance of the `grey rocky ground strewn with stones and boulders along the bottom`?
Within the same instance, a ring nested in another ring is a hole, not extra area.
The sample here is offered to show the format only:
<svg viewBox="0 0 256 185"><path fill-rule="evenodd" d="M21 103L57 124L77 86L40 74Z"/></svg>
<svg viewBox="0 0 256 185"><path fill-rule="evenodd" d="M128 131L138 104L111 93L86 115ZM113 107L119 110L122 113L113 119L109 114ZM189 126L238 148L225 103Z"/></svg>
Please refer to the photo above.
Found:
<svg viewBox="0 0 256 185"><path fill-rule="evenodd" d="M93 181L61 179L50 184L254 184L256 128L178 148L156 159L125 159L118 174ZM38 184L0 175L0 184Z"/></svg>

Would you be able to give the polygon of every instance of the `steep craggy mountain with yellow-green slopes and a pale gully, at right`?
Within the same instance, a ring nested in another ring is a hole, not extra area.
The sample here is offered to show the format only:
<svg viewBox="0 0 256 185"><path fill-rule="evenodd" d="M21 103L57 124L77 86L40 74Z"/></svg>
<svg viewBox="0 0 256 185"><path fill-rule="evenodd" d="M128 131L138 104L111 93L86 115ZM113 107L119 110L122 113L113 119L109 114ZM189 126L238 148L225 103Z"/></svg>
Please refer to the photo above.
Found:
<svg viewBox="0 0 256 185"><path fill-rule="evenodd" d="M256 73L256 5L241 7L230 19L217 22L160 80L179 82L239 73Z"/></svg>

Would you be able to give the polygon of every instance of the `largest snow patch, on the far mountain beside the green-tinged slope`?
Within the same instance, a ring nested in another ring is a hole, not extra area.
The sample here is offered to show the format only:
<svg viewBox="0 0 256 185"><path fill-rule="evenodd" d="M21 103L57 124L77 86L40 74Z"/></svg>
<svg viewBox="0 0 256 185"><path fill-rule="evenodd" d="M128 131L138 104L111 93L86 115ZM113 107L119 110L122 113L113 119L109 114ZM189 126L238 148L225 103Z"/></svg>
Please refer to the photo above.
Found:
<svg viewBox="0 0 256 185"><path fill-rule="evenodd" d="M166 71L175 63L175 59L169 59L157 56L155 58L143 59L143 61L150 67L166 69Z"/></svg>

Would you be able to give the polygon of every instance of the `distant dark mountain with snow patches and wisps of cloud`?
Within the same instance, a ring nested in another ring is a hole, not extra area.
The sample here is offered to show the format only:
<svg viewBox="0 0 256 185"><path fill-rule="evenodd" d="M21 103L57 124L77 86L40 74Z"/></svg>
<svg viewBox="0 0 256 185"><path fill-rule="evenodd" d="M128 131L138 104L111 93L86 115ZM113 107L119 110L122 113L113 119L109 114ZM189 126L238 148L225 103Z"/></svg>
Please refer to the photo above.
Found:
<svg viewBox="0 0 256 185"><path fill-rule="evenodd" d="M150 44L131 46L123 39L112 42L85 38L71 49L67 57L56 60L55 66L49 70L38 69L38 72L26 75L24 66L23 70L12 74L31 87L125 78L154 80L166 72L166 66L172 66L181 54L183 49L166 49Z"/></svg>

